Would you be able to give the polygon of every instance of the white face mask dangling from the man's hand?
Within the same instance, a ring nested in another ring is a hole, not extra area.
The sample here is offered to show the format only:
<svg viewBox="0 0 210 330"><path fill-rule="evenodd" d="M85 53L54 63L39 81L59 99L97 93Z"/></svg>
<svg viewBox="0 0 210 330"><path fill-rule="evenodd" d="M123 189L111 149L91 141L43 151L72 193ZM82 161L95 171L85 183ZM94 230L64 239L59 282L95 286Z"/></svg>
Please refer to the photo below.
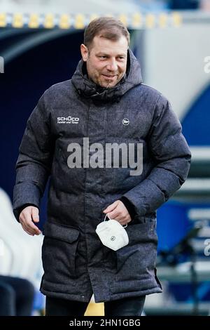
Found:
<svg viewBox="0 0 210 330"><path fill-rule="evenodd" d="M108 214L106 214L108 216ZM102 243L114 251L121 249L129 243L125 227L120 225L117 220L110 219L106 221L106 216L102 223L97 225L97 235ZM109 217L109 216L108 216Z"/></svg>

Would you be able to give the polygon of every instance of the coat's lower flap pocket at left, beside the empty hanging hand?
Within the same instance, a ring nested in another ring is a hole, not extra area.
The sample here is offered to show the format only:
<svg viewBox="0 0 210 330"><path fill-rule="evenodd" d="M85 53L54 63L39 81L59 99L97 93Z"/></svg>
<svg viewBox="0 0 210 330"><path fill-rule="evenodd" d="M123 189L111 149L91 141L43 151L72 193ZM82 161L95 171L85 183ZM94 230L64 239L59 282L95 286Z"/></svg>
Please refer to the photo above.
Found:
<svg viewBox="0 0 210 330"><path fill-rule="evenodd" d="M74 227L45 223L42 246L44 278L48 282L68 284L76 278L76 251L80 232Z"/></svg>

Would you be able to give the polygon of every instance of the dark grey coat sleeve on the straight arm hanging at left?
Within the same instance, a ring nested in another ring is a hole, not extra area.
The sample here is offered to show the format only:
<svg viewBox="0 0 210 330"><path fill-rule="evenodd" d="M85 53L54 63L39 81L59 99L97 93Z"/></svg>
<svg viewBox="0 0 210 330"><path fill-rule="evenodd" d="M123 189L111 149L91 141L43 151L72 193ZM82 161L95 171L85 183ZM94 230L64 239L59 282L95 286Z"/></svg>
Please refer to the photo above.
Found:
<svg viewBox="0 0 210 330"><path fill-rule="evenodd" d="M39 207L51 171L54 143L44 98L43 95L31 113L20 144L13 191L13 213L17 220L25 204Z"/></svg>

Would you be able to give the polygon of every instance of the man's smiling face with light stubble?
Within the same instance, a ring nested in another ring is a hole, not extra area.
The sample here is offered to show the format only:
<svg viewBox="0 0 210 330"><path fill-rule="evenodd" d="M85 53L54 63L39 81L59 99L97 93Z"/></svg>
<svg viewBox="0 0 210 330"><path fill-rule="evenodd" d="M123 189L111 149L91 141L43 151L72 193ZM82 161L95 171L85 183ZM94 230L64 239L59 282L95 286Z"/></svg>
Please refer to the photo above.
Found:
<svg viewBox="0 0 210 330"><path fill-rule="evenodd" d="M88 78L102 87L116 86L126 71L127 48L124 36L118 41L96 36L89 50L82 44L81 53L87 64Z"/></svg>

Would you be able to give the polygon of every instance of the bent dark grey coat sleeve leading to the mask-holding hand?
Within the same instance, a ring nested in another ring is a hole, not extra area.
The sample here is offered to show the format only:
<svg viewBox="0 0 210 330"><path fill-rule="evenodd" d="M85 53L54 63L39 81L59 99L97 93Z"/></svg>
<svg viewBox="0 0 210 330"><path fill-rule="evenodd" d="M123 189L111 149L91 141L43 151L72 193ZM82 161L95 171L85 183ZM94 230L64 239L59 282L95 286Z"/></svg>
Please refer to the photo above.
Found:
<svg viewBox="0 0 210 330"><path fill-rule="evenodd" d="M148 177L126 192L137 216L155 212L179 190L188 176L191 154L181 124L169 102L160 97L148 133L148 146L155 167Z"/></svg>

